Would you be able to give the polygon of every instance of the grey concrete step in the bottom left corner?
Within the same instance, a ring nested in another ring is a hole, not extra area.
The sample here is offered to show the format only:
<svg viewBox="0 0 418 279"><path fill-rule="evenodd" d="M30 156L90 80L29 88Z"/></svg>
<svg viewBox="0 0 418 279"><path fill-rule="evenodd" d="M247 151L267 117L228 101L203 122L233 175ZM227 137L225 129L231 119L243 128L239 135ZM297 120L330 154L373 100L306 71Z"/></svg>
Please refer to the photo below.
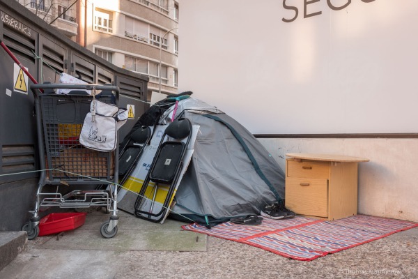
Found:
<svg viewBox="0 0 418 279"><path fill-rule="evenodd" d="M26 232L0 232L0 271L26 249Z"/></svg>

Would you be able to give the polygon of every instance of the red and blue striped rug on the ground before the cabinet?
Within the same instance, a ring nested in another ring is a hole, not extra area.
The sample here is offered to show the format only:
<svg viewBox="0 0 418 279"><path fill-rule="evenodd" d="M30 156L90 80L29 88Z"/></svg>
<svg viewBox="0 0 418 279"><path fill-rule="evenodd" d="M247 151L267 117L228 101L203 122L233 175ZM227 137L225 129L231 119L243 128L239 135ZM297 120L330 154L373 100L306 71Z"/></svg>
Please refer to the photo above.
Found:
<svg viewBox="0 0 418 279"><path fill-rule="evenodd" d="M291 259L311 261L417 226L417 223L403 220L357 215L332 221L296 216L284 220L264 218L263 223L256 226L226 222L212 229L196 223L182 227L256 246Z"/></svg>

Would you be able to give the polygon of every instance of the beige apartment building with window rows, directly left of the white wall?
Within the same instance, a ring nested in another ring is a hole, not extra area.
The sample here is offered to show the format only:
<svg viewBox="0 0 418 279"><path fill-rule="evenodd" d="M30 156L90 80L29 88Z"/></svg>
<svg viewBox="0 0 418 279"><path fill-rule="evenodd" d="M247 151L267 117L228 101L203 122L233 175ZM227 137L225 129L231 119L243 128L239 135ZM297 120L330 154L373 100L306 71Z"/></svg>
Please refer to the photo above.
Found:
<svg viewBox="0 0 418 279"><path fill-rule="evenodd" d="M116 66L147 75L148 100L153 91L177 93L178 2L79 1L75 40Z"/></svg>

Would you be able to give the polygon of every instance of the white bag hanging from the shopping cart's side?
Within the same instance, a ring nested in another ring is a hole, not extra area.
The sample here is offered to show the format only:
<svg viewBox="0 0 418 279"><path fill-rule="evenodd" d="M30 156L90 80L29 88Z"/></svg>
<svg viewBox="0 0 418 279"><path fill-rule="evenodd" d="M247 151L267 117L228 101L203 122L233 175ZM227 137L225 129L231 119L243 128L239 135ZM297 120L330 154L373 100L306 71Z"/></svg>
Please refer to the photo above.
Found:
<svg viewBox="0 0 418 279"><path fill-rule="evenodd" d="M127 120L127 110L93 98L90 112L86 114L79 142L88 149L114 151L118 129Z"/></svg>

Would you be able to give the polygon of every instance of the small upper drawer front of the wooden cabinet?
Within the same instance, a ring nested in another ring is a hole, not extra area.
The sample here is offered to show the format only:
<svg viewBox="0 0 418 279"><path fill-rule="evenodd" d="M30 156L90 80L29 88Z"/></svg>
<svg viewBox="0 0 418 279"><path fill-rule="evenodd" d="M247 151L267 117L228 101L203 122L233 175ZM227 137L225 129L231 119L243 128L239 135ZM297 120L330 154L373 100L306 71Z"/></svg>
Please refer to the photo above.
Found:
<svg viewBox="0 0 418 279"><path fill-rule="evenodd" d="M328 179L330 176L330 163L287 160L288 177Z"/></svg>

